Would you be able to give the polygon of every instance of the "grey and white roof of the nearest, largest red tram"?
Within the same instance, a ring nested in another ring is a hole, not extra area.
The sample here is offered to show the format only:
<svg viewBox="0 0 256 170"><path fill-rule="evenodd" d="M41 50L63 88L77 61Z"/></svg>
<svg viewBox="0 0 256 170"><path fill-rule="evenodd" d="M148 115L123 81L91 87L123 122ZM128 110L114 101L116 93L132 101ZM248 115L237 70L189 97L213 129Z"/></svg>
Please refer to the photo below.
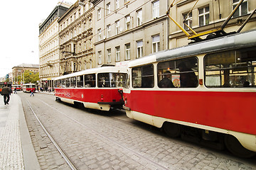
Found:
<svg viewBox="0 0 256 170"><path fill-rule="evenodd" d="M177 47L170 50L156 52L146 57L132 60L128 67L149 64L152 62L159 62L170 59L178 59L209 52L218 52L221 50L231 50L240 47L250 47L256 45L256 30L250 30L243 33L235 33L233 35L226 35L221 38L213 40L206 40L203 42L196 42L191 45Z"/></svg>

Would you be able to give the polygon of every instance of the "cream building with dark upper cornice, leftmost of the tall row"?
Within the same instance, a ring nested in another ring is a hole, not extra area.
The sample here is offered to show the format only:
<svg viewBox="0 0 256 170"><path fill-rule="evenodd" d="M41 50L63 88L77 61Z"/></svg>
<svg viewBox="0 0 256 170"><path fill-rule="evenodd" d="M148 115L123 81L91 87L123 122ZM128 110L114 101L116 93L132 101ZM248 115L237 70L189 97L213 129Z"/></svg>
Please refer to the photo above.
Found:
<svg viewBox="0 0 256 170"><path fill-rule="evenodd" d="M68 11L70 4L58 3L48 18L39 26L39 65L41 87L53 87L53 79L59 74L59 26L58 18Z"/></svg>

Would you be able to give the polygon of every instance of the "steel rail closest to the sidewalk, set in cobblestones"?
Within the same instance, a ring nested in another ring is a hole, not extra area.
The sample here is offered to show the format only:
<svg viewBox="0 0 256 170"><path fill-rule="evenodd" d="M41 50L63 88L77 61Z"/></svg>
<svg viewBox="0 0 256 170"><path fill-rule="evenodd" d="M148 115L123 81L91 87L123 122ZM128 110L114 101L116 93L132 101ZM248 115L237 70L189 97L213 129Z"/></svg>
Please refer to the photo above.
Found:
<svg viewBox="0 0 256 170"><path fill-rule="evenodd" d="M55 141L55 139L53 138L52 135L50 135L50 132L47 130L47 128L43 125L43 123L41 122L41 120L38 118L38 116L36 115L35 111L33 110L31 103L26 100L26 102L28 103L28 107L31 109L33 115L35 115L36 120L38 121L38 123L40 124L41 128L43 129L44 132L46 132L46 135L49 137L50 141L53 143L53 145L55 146L55 148L58 150L58 152L61 154L61 156L63 157L63 159L65 159L65 162L68 164L68 166L70 167L70 169L72 170L78 170L78 167L75 166L75 164L71 161L71 159L68 157L68 154L66 154L63 149L61 149L60 145L58 145L58 143Z"/></svg>

